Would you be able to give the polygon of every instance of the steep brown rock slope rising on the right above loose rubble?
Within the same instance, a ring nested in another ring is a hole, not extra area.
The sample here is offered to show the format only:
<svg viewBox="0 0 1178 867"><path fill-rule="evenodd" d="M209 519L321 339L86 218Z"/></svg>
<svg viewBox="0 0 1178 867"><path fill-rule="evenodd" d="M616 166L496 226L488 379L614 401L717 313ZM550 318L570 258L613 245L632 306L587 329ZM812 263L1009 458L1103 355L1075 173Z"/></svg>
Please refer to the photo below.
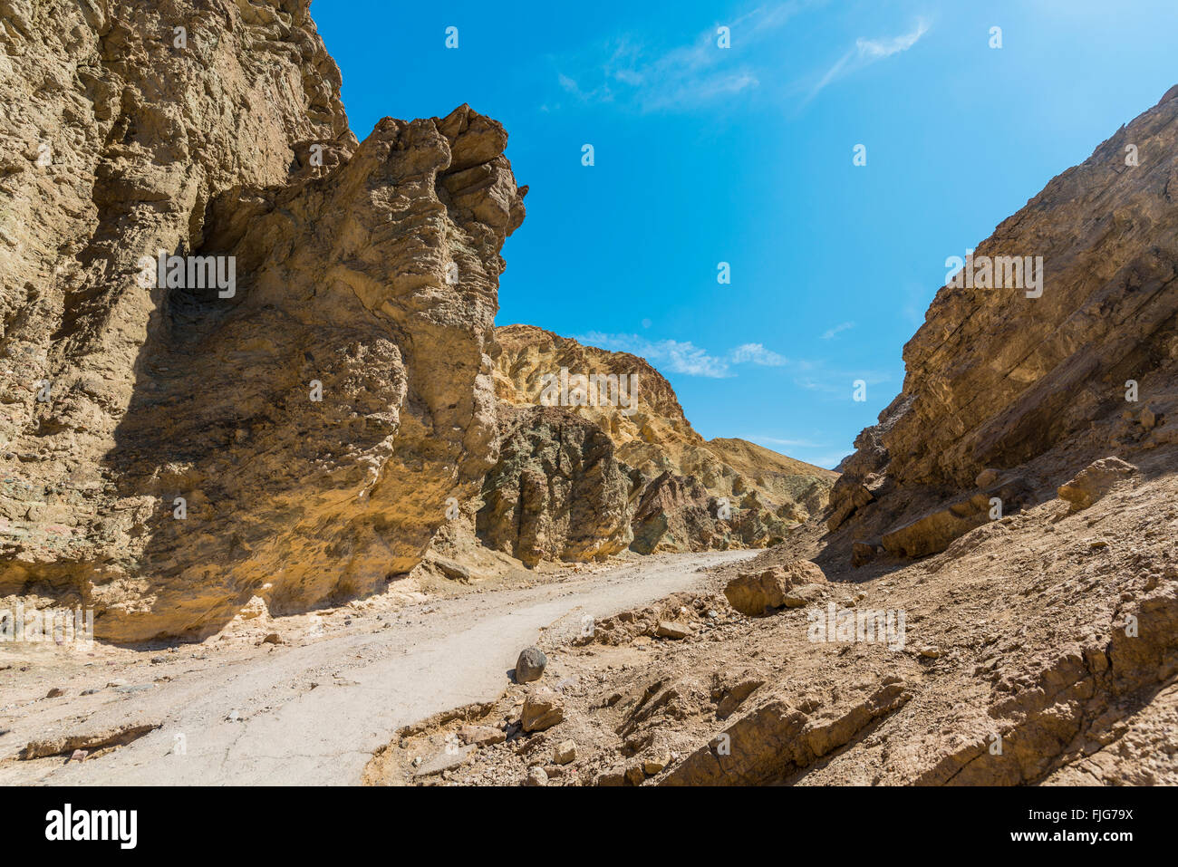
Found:
<svg viewBox="0 0 1178 867"><path fill-rule="evenodd" d="M999 225L966 262L968 283L938 292L905 348L902 393L834 487L840 545L944 550L986 519L984 470L1021 477L1010 514L1096 458L1178 443L1172 94ZM1041 257L1041 286L1012 280L1001 257Z"/></svg>

